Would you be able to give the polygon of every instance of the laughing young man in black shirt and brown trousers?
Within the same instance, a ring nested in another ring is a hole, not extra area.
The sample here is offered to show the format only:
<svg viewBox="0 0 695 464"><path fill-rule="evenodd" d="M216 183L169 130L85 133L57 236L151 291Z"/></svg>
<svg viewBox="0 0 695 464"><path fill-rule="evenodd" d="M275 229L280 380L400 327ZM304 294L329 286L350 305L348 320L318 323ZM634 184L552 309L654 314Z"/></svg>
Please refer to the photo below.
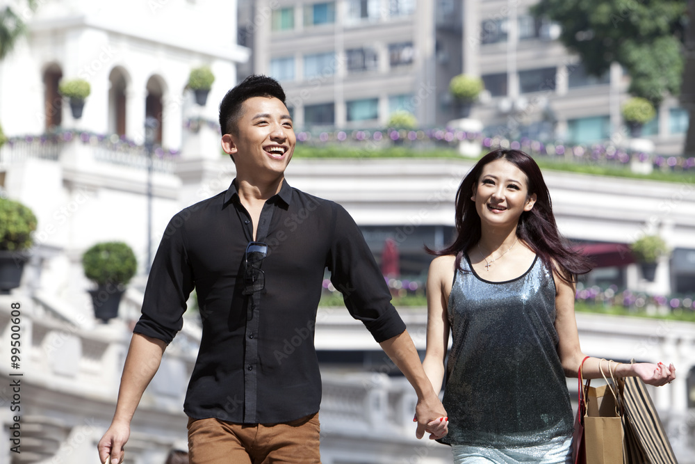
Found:
<svg viewBox="0 0 695 464"><path fill-rule="evenodd" d="M441 438L445 410L361 232L334 202L284 179L295 134L277 81L250 76L220 104L236 179L172 218L133 330L103 463L130 422L197 291L203 333L183 409L191 463L320 463L321 379L313 345L324 271L418 394L416 435ZM270 243L272 246L269 246ZM302 343L292 353L288 340Z"/></svg>

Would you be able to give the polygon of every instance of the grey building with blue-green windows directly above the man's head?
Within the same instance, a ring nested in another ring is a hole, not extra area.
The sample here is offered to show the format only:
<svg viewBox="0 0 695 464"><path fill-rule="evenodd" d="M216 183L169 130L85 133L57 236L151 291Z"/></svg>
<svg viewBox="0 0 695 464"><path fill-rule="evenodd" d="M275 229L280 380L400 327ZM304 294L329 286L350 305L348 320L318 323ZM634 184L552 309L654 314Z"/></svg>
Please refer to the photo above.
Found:
<svg viewBox="0 0 695 464"><path fill-rule="evenodd" d="M252 49L240 77L281 81L300 128L382 127L399 109L443 124L438 93L460 72L461 29L449 15L449 51L438 49L439 3L460 11L453 1L240 1L240 43Z"/></svg>

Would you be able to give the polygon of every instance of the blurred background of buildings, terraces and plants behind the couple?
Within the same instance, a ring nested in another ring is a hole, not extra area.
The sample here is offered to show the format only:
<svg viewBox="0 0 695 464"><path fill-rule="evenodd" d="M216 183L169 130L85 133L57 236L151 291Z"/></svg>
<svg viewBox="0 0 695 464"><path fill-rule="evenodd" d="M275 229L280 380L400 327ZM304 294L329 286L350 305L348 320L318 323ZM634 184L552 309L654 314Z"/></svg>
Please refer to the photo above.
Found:
<svg viewBox="0 0 695 464"><path fill-rule="evenodd" d="M234 179L218 103L249 74L286 90L288 182L350 211L422 353L424 246L452 239L459 182L496 147L532 154L560 231L596 264L577 291L582 349L676 365L649 391L679 462L695 463L694 8L0 1L0 464L97 459L165 227ZM416 440L410 385L329 275L324 287L323 462L450 462ZM126 462L186 448L200 337L189 303Z"/></svg>

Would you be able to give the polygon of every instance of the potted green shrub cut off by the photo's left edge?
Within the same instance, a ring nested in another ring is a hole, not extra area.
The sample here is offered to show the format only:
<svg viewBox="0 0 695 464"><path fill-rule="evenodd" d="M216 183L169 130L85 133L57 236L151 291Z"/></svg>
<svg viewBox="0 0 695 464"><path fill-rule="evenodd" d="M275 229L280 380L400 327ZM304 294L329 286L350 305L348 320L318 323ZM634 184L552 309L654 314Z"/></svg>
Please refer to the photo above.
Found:
<svg viewBox="0 0 695 464"><path fill-rule="evenodd" d="M37 221L29 207L0 198L0 294L19 287Z"/></svg>

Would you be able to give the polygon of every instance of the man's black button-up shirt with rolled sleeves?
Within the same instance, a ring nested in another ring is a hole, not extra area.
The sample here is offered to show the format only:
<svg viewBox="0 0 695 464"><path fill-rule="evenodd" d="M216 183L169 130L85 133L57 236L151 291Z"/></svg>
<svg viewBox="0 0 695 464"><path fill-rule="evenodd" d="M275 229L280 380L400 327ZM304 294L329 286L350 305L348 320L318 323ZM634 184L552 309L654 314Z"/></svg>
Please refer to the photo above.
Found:
<svg viewBox="0 0 695 464"><path fill-rule="evenodd" d="M170 343L195 287L203 332L183 406L193 419L273 424L318 411L313 339L326 268L377 342L405 330L359 228L337 203L285 180L265 202L257 233L268 256L265 289L253 296L242 294L253 227L236 181L175 215L154 258L133 331Z"/></svg>

